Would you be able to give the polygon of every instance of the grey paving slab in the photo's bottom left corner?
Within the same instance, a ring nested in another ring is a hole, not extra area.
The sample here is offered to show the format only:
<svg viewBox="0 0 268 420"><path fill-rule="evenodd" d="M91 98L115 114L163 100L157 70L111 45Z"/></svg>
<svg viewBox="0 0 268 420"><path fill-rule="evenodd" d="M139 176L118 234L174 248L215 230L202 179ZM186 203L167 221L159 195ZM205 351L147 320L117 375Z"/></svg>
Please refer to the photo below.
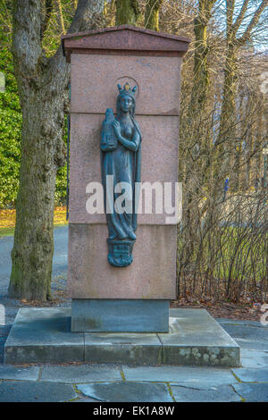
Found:
<svg viewBox="0 0 268 420"><path fill-rule="evenodd" d="M66 383L0 382L1 402L63 402L75 397L72 386Z"/></svg>

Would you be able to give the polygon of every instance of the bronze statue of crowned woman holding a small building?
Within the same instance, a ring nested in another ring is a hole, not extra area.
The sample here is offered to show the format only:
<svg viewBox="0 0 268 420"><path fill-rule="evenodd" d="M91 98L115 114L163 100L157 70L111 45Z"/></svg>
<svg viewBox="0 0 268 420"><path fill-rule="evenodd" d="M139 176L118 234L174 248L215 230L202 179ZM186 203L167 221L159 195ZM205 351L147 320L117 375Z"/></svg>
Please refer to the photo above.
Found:
<svg viewBox="0 0 268 420"><path fill-rule="evenodd" d="M135 92L126 83L117 85L116 117L106 111L101 135L102 182L108 225L108 262L124 267L133 261L136 240L141 133L135 121Z"/></svg>

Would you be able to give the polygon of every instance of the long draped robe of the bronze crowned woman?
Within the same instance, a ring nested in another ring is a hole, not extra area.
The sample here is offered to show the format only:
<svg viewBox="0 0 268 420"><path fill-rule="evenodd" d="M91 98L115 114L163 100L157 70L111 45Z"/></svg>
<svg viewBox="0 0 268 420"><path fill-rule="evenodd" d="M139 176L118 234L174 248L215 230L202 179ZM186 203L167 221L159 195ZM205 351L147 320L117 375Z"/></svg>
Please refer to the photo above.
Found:
<svg viewBox="0 0 268 420"><path fill-rule="evenodd" d="M102 182L105 193L105 210L112 209L113 213L106 212L106 220L108 224L109 238L127 239L130 234L137 229L137 213L138 203L135 202L135 197L138 199L138 191L135 194L135 183L140 182L140 160L141 160L141 134L138 127L138 122L130 117L133 123L133 130L128 130L128 127L121 130L121 136L124 139L132 141L135 144L135 151L123 146L118 141L117 147L114 150L109 150L105 146L101 146L101 164L102 164ZM119 120L118 120L119 121ZM113 175L113 191L108 190L106 194L106 175ZM114 210L114 201L121 193L114 193L114 187L118 182L128 182L131 186L132 197L132 213L118 214ZM138 188L138 187L137 187ZM106 199L109 203L106 203ZM107 206L108 204L108 206Z"/></svg>

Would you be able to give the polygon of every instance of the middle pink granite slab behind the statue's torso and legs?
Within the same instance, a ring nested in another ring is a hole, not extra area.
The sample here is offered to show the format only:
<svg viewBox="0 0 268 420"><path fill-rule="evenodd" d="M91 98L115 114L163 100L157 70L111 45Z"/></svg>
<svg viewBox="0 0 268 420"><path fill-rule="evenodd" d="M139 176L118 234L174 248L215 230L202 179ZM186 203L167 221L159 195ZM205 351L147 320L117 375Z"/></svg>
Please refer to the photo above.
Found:
<svg viewBox="0 0 268 420"><path fill-rule="evenodd" d="M88 214L86 210L88 183L101 182L99 143L104 118L100 114L71 114L70 223L105 223L105 214ZM138 115L137 121L143 136L141 181L178 181L179 117ZM164 209L163 214L155 214L154 200L153 212L138 214L138 223L166 224L170 214Z"/></svg>

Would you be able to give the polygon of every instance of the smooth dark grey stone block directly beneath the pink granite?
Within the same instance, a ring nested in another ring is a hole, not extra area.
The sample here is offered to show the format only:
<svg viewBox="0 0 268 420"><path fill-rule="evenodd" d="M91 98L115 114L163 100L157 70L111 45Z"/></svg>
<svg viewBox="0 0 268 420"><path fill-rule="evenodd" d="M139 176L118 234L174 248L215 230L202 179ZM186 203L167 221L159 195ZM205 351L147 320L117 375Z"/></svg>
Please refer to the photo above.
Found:
<svg viewBox="0 0 268 420"><path fill-rule="evenodd" d="M170 301L71 299L72 332L169 332Z"/></svg>

